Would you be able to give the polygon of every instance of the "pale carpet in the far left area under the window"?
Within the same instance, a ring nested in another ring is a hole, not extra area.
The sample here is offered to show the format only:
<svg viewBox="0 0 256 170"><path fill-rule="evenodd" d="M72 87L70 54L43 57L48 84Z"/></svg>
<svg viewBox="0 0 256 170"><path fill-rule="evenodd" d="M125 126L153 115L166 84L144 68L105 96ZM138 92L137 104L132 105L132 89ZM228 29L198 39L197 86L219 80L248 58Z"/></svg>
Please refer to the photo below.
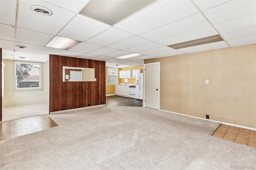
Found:
<svg viewBox="0 0 256 170"><path fill-rule="evenodd" d="M47 114L49 114L49 103L2 107L3 122Z"/></svg>

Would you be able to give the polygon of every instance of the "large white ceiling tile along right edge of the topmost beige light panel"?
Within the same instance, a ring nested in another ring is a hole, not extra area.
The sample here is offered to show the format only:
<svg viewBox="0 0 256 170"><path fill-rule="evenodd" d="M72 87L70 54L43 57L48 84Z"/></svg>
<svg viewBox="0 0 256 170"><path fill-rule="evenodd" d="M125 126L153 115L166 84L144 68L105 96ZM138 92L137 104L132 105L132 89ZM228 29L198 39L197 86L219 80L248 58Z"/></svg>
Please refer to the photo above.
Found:
<svg viewBox="0 0 256 170"><path fill-rule="evenodd" d="M163 0L114 27L138 35L197 12L190 1Z"/></svg>

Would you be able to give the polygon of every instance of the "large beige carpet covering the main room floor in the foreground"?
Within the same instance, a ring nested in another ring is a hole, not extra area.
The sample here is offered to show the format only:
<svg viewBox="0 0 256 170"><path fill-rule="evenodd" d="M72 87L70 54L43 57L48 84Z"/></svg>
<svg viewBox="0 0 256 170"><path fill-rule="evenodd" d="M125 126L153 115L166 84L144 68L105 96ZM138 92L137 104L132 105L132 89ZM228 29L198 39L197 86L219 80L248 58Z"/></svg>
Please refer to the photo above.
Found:
<svg viewBox="0 0 256 170"><path fill-rule="evenodd" d="M219 123L142 107L51 115L58 127L0 141L0 169L256 167L256 148L211 136Z"/></svg>

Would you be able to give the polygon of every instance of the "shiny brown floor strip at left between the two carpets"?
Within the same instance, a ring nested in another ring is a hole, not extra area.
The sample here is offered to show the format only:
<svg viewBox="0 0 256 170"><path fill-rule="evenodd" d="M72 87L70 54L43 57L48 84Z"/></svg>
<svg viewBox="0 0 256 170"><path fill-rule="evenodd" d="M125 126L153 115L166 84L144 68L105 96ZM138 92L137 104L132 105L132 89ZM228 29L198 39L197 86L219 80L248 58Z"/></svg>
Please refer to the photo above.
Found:
<svg viewBox="0 0 256 170"><path fill-rule="evenodd" d="M0 141L56 126L58 124L49 115L3 122L0 125Z"/></svg>

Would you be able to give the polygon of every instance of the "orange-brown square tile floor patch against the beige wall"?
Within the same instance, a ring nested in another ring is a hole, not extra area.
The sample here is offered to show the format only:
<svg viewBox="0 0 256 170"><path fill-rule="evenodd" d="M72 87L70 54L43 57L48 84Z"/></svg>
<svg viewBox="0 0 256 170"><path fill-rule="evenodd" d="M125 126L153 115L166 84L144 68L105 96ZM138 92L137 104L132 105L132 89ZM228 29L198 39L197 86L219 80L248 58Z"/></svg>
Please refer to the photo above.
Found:
<svg viewBox="0 0 256 170"><path fill-rule="evenodd" d="M256 148L256 131L221 124L212 136Z"/></svg>

